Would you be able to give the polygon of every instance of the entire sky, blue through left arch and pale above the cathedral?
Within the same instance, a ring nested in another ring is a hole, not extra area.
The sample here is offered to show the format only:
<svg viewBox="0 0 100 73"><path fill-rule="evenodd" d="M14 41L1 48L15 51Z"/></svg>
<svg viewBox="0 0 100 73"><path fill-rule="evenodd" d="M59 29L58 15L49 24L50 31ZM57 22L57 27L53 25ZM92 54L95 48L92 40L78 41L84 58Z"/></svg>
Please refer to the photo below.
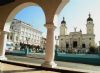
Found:
<svg viewBox="0 0 100 73"><path fill-rule="evenodd" d="M57 34L59 34L59 27L63 17L65 17L68 32L74 31L74 27L77 27L77 31L81 29L85 34L86 20L89 13L93 18L94 33L96 35L95 39L98 44L98 41L100 40L100 0L70 0L58 16ZM43 35L45 35L45 15L41 7L26 7L17 13L15 18L31 24L33 28L42 31Z"/></svg>

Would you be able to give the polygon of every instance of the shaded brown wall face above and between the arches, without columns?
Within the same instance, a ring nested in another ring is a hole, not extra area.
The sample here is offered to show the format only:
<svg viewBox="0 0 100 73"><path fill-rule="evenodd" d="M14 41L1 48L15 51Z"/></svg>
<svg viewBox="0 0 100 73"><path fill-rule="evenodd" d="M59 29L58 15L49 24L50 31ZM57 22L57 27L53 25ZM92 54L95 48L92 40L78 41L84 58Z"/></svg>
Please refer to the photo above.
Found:
<svg viewBox="0 0 100 73"><path fill-rule="evenodd" d="M8 18L8 15L11 13L11 11L17 7L20 4L26 3L26 2L32 2L38 4L44 11L45 17L46 17L46 24L53 23L54 17L56 14L59 14L61 9L65 6L65 4L69 0L48 0L48 1L42 1L42 0L15 0L12 3L9 3L4 6L0 6L0 29L3 30L4 24L6 22L6 19ZM52 4L52 5L51 5ZM60 5L60 6L59 6ZM10 23L10 22L9 22Z"/></svg>

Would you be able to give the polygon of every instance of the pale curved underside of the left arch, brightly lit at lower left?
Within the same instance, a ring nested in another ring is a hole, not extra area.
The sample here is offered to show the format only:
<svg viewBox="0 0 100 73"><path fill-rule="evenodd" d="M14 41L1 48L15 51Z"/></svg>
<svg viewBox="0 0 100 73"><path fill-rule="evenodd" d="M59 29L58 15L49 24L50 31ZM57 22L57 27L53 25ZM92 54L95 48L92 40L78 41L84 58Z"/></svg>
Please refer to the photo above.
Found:
<svg viewBox="0 0 100 73"><path fill-rule="evenodd" d="M24 9L25 7L28 7L28 6L39 6L38 4L36 3L33 3L33 2L26 2L26 3L22 3L20 5L18 5L16 8L14 8L11 13L9 13L8 15L8 18L6 19L6 22L5 22L5 25L4 25L4 29L3 31L7 31L9 32L9 28L10 28L10 25L12 23L12 20L13 18L15 17L15 15L22 9ZM40 6L39 6L40 7ZM44 11L43 11L44 12ZM45 13L44 13L45 14Z"/></svg>

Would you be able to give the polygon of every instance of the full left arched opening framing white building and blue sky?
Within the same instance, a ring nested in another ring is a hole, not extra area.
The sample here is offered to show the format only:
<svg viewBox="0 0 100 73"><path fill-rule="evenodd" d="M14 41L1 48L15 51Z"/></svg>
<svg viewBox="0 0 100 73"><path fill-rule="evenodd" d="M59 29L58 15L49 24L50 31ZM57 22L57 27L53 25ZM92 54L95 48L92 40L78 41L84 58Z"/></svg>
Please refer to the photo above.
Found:
<svg viewBox="0 0 100 73"><path fill-rule="evenodd" d="M4 27L4 31L9 31L6 54L12 54L7 55L8 59L14 60L14 55L16 58L18 58L17 56L27 57L28 60L26 62L29 62L29 57L44 58L44 42L46 42L45 21L45 13L42 8L31 2L17 6L9 14ZM21 59L23 58L21 57ZM21 59L18 59L18 61L21 61ZM24 62L25 60L22 61Z"/></svg>

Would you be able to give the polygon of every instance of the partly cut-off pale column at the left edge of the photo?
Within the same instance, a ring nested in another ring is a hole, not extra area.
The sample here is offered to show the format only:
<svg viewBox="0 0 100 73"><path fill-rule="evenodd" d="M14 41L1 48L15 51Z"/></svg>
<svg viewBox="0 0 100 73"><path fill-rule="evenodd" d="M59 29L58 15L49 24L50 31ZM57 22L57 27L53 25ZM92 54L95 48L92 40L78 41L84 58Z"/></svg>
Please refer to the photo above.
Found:
<svg viewBox="0 0 100 73"><path fill-rule="evenodd" d="M0 60L7 60L7 58L5 57L6 42L7 32L2 31L0 33Z"/></svg>

